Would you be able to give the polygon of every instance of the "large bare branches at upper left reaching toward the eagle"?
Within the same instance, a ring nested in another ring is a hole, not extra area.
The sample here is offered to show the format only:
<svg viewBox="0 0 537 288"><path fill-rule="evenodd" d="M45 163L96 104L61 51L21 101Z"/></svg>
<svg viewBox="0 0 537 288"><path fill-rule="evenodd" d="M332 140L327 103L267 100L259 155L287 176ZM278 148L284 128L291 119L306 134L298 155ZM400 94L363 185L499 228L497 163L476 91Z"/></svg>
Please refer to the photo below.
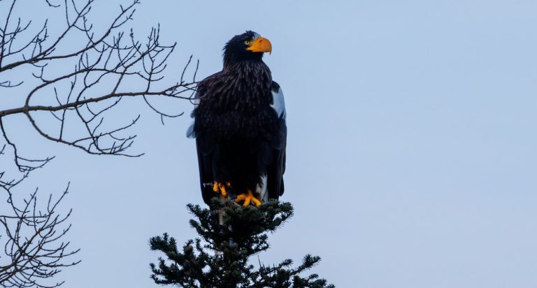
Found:
<svg viewBox="0 0 537 288"><path fill-rule="evenodd" d="M37 70L31 74L41 84L29 90L20 107L0 110L0 119L6 119L6 116L13 114L24 114L36 132L51 141L73 146L91 154L140 156L140 153L127 153L136 135L125 134L128 128L136 124L139 115L126 123L116 124L115 127L110 127L106 115L117 107L122 99L139 97L159 115L163 124L164 118L181 116L183 112L169 113L160 110L155 103L152 103L152 99L192 100L198 65L194 68L192 79L187 80L185 73L192 62L191 56L180 73L179 81L163 85L166 62L176 44L160 43L159 26L151 29L143 42L136 40L132 30L128 35L121 31L122 26L132 20L138 0L132 1L126 7L120 6L117 17L110 22L106 31L96 36L99 33L94 31L87 18L93 1L87 0L78 6L74 1L71 4L64 1L66 18L64 31L55 40L49 40L48 22L45 21L31 41L17 46L19 48L16 49L13 48L15 36L27 31L31 22L25 25L17 22L11 27L10 13L8 14L8 20L0 37L2 40L0 77L3 72L30 65ZM10 8L13 8L16 2L17 0L13 1ZM59 5L50 1L47 4L52 8ZM85 44L72 52L57 54L65 39L75 32L78 32L78 36L83 36ZM20 56L20 59L17 59L17 56ZM50 66L65 66L66 62L60 61L66 59L71 59L71 63L74 64L73 70L59 75L48 73L51 70ZM145 85L139 85L139 89L133 91L132 83L145 83ZM0 89L21 84L22 81L13 82L6 79L0 82ZM37 100L39 103L33 104ZM57 128L50 128L50 123L41 121L41 117L36 117L36 114L43 111L48 112L57 121ZM76 136L66 131L68 121L70 127L76 127L78 132ZM81 136L80 131L84 131L85 135ZM6 137L6 132L3 135Z"/></svg>

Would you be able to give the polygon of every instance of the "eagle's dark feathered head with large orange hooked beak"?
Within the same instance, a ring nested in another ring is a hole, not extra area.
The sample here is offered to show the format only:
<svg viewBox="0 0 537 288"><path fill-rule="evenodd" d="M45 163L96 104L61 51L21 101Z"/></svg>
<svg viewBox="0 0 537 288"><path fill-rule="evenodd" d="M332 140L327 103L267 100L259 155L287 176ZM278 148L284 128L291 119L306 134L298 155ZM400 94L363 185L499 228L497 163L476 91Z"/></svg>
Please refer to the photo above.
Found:
<svg viewBox="0 0 537 288"><path fill-rule="evenodd" d="M246 31L231 38L224 46L224 63L261 61L264 52L272 52L271 41L254 31Z"/></svg>

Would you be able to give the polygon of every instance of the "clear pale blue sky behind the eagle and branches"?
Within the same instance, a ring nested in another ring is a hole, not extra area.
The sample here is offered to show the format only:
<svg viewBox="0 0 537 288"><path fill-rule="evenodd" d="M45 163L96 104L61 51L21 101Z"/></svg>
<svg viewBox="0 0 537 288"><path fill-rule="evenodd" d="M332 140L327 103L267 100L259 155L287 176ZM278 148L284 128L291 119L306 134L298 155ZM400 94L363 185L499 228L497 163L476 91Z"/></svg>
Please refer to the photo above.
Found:
<svg viewBox="0 0 537 288"><path fill-rule="evenodd" d="M90 20L109 19L113 2L96 1ZM190 54L200 77L220 70L222 46L247 29L271 40L264 59L289 129L281 199L296 215L262 262L320 255L314 272L336 287L531 288L536 11L529 0L145 0L130 25L142 38L160 23L162 42L178 42L170 82ZM203 202L190 119L162 126L134 100L121 111L142 114L141 158L88 156L37 137L22 116L5 120L22 151L57 156L29 188L71 181L64 207L83 262L60 275L65 287L156 287L148 239L195 236L185 205Z"/></svg>

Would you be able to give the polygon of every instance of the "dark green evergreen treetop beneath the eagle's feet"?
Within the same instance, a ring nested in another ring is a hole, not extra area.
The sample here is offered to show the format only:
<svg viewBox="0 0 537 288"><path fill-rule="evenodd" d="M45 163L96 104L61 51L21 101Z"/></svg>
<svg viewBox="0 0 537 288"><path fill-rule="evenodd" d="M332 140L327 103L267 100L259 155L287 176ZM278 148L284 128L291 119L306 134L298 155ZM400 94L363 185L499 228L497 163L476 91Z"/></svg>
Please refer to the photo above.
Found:
<svg viewBox="0 0 537 288"><path fill-rule="evenodd" d="M185 288L334 287L316 274L301 276L320 262L320 257L306 255L302 264L294 268L291 259L273 266L248 263L250 257L268 250L268 232L274 232L292 217L291 204L267 202L259 207L243 207L215 199L211 209L193 204L187 207L196 218L190 220L190 225L200 238L187 241L182 251L168 234L151 238L151 250L166 255L166 259L159 258L158 265L150 264L155 283Z"/></svg>

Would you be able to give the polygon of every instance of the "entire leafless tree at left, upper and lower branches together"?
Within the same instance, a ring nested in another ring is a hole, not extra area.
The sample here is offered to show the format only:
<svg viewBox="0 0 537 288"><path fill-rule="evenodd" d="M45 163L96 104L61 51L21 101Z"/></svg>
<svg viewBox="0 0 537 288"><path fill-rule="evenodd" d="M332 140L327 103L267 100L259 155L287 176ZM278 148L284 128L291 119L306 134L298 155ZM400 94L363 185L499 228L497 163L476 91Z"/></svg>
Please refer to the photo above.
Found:
<svg viewBox="0 0 537 288"><path fill-rule="evenodd" d="M0 95L19 100L12 107L0 107L0 158L13 159L0 163L10 162L17 168L12 176L9 165L0 167L0 198L5 199L0 202L0 244L4 248L0 287L58 287L63 282L49 284L50 278L62 268L78 264L67 261L78 250L71 250L64 239L71 227L66 224L71 211L64 215L58 211L69 185L60 197L50 195L46 202L38 201L37 189L24 199L14 192L31 172L54 158L22 156L10 122L17 119L15 115L24 115L45 139L90 154L136 157L141 153L127 151L136 138L129 128L140 115L119 124L109 120L117 121L110 116L118 114L125 99L140 98L164 124L164 118L183 112L160 109L157 98L194 98L199 62L191 65L191 56L177 73L166 73L176 75L166 80L164 73L176 44L160 42L159 26L144 40L126 29L138 3L131 0L129 5L119 6L116 17L99 30L90 22L94 0L32 1L32 5L43 5L43 15L63 15L64 27L53 32L48 20L38 24L39 20L17 15L24 13L27 3L0 0ZM189 71L192 76L187 76ZM23 76L13 79L13 75ZM10 95L11 91L17 95Z"/></svg>

